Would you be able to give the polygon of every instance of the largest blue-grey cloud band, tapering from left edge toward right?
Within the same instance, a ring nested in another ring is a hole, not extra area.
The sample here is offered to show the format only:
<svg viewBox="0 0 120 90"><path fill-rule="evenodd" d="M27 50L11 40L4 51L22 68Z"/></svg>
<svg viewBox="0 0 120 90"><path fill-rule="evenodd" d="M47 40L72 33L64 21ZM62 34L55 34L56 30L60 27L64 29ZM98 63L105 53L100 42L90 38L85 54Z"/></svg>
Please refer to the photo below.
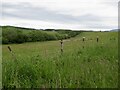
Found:
<svg viewBox="0 0 120 90"><path fill-rule="evenodd" d="M6 9L13 9L8 12ZM74 17L72 15L58 14L42 7L33 7L30 3L10 4L3 3L3 17L15 17L29 20L50 21L59 23L81 24L87 21L97 22L101 18L92 14Z"/></svg>

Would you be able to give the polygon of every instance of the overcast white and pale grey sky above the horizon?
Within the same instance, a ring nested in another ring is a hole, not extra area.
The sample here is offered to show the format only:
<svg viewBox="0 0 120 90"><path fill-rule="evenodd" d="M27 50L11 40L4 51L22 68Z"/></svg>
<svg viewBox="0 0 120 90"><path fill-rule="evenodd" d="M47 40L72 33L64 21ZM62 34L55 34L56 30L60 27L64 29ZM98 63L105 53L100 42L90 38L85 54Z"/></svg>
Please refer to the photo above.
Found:
<svg viewBox="0 0 120 90"><path fill-rule="evenodd" d="M0 25L35 29L117 29L118 1L1 0Z"/></svg>

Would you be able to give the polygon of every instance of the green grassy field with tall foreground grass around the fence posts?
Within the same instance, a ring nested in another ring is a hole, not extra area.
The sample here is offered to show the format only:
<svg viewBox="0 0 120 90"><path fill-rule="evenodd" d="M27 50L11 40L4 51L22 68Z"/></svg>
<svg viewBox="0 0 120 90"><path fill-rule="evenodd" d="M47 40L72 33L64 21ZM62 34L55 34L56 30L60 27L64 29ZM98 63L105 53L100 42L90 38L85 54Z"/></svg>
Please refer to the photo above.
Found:
<svg viewBox="0 0 120 90"><path fill-rule="evenodd" d="M96 42L99 36L99 42ZM85 42L82 41L85 37ZM60 41L3 45L4 87L116 88L118 86L118 33L83 32ZM84 48L83 48L84 47Z"/></svg>

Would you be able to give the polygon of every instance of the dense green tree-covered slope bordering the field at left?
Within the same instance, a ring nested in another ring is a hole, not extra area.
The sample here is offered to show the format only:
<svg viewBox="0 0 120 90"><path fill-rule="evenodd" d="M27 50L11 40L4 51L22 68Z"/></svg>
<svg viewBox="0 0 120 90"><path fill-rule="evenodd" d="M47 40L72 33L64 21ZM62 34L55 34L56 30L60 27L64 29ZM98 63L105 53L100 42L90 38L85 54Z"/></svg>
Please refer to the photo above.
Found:
<svg viewBox="0 0 120 90"><path fill-rule="evenodd" d="M14 26L1 27L3 44L68 39L80 33L80 31L71 30L36 30Z"/></svg>

